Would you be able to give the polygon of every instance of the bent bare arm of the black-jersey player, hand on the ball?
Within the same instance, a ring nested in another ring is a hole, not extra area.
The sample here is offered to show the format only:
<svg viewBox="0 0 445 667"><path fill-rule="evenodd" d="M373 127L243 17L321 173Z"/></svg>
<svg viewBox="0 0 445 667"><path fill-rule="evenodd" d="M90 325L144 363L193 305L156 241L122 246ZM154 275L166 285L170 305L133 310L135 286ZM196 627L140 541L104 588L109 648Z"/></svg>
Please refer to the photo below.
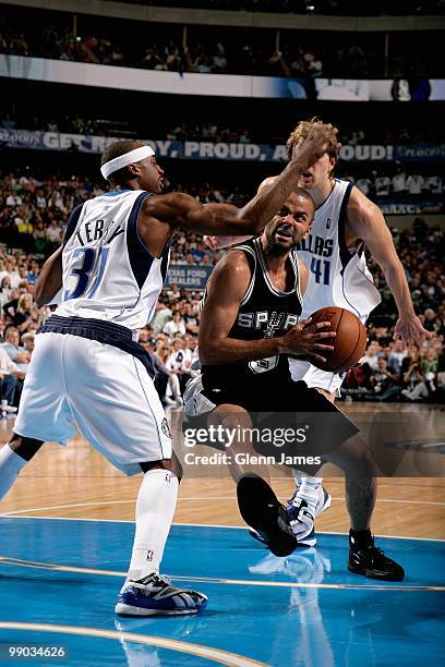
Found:
<svg viewBox="0 0 445 667"><path fill-rule="evenodd" d="M240 340L228 338L249 287L251 268L242 251L230 252L218 262L207 284L207 298L201 315L199 350L202 363L209 365L255 361L286 352L300 352L308 359L326 361L323 351L332 351L335 332L322 331L328 322L306 326L304 320L278 338Z"/></svg>

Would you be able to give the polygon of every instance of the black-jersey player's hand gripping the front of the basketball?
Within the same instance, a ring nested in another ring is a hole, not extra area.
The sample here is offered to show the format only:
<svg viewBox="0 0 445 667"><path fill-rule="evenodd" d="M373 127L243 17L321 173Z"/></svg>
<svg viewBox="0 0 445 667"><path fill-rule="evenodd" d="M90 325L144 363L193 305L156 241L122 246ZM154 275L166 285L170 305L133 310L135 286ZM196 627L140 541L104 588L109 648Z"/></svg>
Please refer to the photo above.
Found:
<svg viewBox="0 0 445 667"><path fill-rule="evenodd" d="M312 317L303 319L281 337L284 352L289 354L298 352L308 361L324 363L326 357L323 356L323 352L334 350L334 345L329 343L333 342L336 332L326 331L330 329L330 322L318 322L314 325L311 325L311 322Z"/></svg>

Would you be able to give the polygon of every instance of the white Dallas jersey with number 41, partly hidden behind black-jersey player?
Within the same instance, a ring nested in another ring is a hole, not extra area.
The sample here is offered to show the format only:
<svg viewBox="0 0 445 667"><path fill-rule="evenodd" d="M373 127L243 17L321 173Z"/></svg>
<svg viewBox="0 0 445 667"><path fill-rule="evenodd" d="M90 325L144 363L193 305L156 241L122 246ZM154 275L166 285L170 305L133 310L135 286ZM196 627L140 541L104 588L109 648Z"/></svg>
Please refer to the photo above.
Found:
<svg viewBox="0 0 445 667"><path fill-rule="evenodd" d="M351 251L345 241L346 209L352 187L349 181L335 179L332 193L315 211L309 239L297 248L309 269L303 318L335 305L365 319L381 302L366 267L363 243Z"/></svg>

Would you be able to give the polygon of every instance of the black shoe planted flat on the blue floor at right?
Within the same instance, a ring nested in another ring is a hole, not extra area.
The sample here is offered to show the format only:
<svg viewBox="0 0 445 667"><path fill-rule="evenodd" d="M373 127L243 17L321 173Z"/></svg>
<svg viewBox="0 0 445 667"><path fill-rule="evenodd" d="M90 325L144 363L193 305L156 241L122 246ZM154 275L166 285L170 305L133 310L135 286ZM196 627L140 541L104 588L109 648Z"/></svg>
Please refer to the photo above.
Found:
<svg viewBox="0 0 445 667"><path fill-rule="evenodd" d="M348 570L382 581L402 581L405 570L374 545L374 538L366 545L349 544Z"/></svg>

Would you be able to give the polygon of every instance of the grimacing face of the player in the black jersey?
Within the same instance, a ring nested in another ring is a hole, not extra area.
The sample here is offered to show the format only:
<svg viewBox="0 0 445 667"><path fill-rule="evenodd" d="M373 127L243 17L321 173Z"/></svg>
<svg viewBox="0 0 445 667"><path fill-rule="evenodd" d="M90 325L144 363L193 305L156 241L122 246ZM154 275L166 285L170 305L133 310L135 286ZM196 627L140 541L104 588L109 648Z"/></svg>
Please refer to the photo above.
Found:
<svg viewBox="0 0 445 667"><path fill-rule="evenodd" d="M312 202L291 195L265 228L268 244L275 250L289 251L309 232L313 217Z"/></svg>

